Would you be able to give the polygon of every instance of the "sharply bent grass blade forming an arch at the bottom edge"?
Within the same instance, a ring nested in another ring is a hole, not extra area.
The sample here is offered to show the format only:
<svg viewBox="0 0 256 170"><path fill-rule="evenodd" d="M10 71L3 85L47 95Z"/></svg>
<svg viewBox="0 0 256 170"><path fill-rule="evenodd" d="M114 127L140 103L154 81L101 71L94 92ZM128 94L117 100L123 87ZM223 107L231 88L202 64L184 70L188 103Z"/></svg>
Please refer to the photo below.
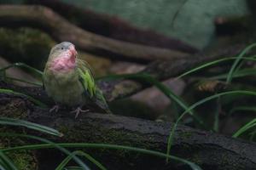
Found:
<svg viewBox="0 0 256 170"><path fill-rule="evenodd" d="M103 167L102 164L99 161L96 161L96 159L94 159L92 156L90 156L87 153L84 153L84 151L82 150L76 150L73 151L72 155L67 156L62 162L61 164L55 168L55 170L62 170L64 167L66 167L67 163L72 159L72 156L76 155L76 156L84 156L86 159L88 159L89 161L93 162L97 167L99 167L102 170L107 170L106 167Z"/></svg>

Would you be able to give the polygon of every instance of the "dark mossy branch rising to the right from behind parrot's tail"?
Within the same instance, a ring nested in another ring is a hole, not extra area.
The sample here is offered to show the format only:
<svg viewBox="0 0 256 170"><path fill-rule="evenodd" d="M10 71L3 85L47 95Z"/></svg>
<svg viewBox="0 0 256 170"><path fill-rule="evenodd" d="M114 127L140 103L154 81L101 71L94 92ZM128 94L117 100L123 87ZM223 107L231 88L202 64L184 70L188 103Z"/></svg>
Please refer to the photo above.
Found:
<svg viewBox="0 0 256 170"><path fill-rule="evenodd" d="M177 77L185 71L195 68L196 66L206 64L215 59L234 56L241 52L245 45L233 45L224 49L213 52L202 52L193 54L180 59L172 59L168 61L155 61L149 64L142 73L147 73L152 77L163 81L167 78ZM131 80L99 82L100 88L106 95L108 101L124 98L136 94L137 92L148 88L150 84L144 82L136 82Z"/></svg>

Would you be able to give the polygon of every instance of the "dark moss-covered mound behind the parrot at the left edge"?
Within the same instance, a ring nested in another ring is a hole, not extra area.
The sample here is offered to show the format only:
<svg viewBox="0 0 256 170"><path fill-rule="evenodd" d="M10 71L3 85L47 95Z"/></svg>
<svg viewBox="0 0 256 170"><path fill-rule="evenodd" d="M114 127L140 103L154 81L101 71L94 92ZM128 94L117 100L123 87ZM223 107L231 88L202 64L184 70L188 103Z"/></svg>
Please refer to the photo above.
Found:
<svg viewBox="0 0 256 170"><path fill-rule="evenodd" d="M49 35L36 29L0 28L0 55L11 62L25 62L43 69L54 44Z"/></svg>

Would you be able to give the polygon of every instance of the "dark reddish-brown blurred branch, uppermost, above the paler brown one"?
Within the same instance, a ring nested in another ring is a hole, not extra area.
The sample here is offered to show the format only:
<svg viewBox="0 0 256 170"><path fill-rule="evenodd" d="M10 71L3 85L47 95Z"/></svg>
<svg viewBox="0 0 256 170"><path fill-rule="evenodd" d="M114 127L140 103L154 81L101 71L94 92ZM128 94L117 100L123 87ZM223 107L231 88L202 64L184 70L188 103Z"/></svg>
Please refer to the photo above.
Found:
<svg viewBox="0 0 256 170"><path fill-rule="evenodd" d="M79 8L72 4L63 3L60 0L26 0L26 2L49 7L67 20L73 22L76 26L102 36L125 42L174 49L189 54L198 52L198 49L177 39L160 35L154 31L141 30L117 17L109 16L108 14L97 14L88 8Z"/></svg>

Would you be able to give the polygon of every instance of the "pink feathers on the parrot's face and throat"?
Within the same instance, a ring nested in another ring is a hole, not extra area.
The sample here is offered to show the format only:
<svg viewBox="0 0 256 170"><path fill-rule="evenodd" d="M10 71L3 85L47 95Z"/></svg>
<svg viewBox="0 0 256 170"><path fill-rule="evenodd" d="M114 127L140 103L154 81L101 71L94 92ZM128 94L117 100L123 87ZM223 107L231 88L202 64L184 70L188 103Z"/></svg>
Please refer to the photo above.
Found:
<svg viewBox="0 0 256 170"><path fill-rule="evenodd" d="M77 51L72 45L67 51L63 51L59 57L52 60L49 69L52 71L72 71L76 66Z"/></svg>

